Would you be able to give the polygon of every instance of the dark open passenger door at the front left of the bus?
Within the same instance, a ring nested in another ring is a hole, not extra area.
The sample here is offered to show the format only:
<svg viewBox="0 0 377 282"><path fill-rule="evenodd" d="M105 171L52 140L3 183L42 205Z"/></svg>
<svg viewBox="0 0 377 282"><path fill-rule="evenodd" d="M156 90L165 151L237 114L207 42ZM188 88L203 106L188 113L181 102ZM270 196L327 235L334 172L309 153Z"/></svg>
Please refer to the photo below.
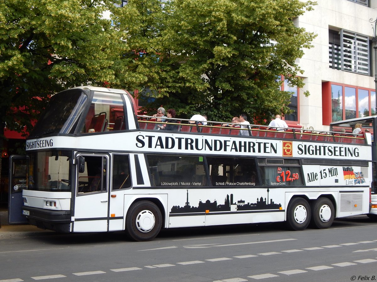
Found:
<svg viewBox="0 0 377 282"><path fill-rule="evenodd" d="M22 190L28 188L29 181L29 157L11 156L9 159L9 224L28 223L22 214L23 198Z"/></svg>

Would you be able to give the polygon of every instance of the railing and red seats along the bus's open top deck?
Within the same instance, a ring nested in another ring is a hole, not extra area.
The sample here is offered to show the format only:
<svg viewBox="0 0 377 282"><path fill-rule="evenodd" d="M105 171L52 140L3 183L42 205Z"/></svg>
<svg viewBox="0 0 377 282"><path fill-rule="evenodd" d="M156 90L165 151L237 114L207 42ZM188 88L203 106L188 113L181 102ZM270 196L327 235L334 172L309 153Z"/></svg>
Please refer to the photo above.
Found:
<svg viewBox="0 0 377 282"><path fill-rule="evenodd" d="M367 144L365 134L348 133L340 131L326 131L314 129L297 129L293 127L268 127L258 124L247 125L247 128L240 128L239 123L222 121L193 121L182 118L168 118L169 121L157 121L158 117L138 115L140 129L156 130L157 124L173 124L177 126L178 132L219 134L219 135L240 135L242 130L247 130L252 137L278 138L278 139L299 139L306 141L334 142L345 144ZM194 123L190 123L194 122Z"/></svg>

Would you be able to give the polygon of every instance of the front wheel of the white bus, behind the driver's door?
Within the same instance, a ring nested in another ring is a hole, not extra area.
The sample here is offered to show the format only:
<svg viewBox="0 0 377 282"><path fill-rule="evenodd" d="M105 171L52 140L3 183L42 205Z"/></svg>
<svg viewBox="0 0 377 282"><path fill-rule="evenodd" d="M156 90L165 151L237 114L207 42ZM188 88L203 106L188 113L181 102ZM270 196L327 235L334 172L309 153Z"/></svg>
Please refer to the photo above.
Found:
<svg viewBox="0 0 377 282"><path fill-rule="evenodd" d="M140 201L133 203L126 217L126 232L135 241L150 241L160 232L161 211L155 203Z"/></svg>

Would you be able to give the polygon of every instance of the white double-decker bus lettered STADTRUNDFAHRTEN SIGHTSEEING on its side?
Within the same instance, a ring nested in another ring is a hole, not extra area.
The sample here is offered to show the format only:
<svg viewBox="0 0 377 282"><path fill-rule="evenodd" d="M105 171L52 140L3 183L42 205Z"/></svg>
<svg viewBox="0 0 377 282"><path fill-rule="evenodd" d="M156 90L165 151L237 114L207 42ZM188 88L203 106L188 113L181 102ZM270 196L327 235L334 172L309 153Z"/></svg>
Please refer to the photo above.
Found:
<svg viewBox="0 0 377 282"><path fill-rule="evenodd" d="M368 133L340 140L331 131L166 122L177 130L137 115L124 90L55 94L26 140L22 214L43 229L124 230L147 241L161 228L285 221L303 230L369 213Z"/></svg>

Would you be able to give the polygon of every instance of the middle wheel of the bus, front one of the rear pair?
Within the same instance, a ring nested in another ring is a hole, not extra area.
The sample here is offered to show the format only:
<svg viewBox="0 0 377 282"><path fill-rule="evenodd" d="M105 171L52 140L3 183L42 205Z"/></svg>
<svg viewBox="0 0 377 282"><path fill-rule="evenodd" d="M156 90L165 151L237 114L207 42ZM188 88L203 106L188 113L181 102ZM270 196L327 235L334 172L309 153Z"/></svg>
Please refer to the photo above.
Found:
<svg viewBox="0 0 377 282"><path fill-rule="evenodd" d="M287 208L287 227L291 230L304 230L310 223L310 205L303 198L294 198Z"/></svg>

